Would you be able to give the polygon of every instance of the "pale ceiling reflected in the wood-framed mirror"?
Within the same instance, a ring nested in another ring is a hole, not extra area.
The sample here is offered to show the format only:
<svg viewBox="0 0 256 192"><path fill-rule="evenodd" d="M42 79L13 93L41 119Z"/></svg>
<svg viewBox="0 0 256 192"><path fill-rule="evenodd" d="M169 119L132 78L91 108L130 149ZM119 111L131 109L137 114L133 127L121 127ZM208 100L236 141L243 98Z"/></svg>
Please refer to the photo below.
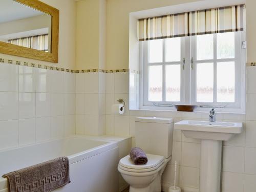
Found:
<svg viewBox="0 0 256 192"><path fill-rule="evenodd" d="M0 0L0 7L0 23L44 14L36 9L17 3L13 0Z"/></svg>

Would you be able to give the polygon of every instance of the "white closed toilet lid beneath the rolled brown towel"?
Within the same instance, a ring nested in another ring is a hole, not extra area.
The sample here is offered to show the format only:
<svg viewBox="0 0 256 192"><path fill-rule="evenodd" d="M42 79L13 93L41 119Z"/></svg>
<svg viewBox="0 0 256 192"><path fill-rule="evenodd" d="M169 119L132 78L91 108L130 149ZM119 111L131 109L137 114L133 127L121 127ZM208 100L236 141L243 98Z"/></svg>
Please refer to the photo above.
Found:
<svg viewBox="0 0 256 192"><path fill-rule="evenodd" d="M164 157L160 155L146 154L146 156L147 156L147 163L144 165L135 165L130 155L123 157L119 161L119 165L125 168L130 168L130 169L147 169L147 168L157 167L160 163L162 164L164 160Z"/></svg>

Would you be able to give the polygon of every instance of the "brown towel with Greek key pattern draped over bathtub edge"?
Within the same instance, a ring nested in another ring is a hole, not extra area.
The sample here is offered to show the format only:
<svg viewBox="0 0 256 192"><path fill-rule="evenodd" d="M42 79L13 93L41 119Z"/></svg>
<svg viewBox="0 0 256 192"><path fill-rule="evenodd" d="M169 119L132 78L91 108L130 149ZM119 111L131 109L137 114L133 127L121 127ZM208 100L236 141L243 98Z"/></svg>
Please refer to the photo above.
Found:
<svg viewBox="0 0 256 192"><path fill-rule="evenodd" d="M59 157L3 175L10 192L49 192L70 183L69 159Z"/></svg>

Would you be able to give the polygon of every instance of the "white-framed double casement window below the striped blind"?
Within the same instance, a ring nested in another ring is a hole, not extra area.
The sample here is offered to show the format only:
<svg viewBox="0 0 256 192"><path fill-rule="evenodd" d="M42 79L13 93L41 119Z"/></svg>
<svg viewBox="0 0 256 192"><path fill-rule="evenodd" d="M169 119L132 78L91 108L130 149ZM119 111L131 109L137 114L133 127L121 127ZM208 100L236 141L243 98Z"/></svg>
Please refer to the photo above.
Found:
<svg viewBox="0 0 256 192"><path fill-rule="evenodd" d="M141 42L144 106L243 108L245 32Z"/></svg>

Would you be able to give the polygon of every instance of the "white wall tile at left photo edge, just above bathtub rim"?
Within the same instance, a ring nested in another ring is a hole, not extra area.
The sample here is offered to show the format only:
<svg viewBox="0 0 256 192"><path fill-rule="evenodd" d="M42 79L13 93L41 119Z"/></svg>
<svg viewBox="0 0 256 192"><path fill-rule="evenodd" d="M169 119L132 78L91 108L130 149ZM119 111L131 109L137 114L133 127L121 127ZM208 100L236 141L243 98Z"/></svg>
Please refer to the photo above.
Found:
<svg viewBox="0 0 256 192"><path fill-rule="evenodd" d="M18 120L0 121L0 149L18 145Z"/></svg>

